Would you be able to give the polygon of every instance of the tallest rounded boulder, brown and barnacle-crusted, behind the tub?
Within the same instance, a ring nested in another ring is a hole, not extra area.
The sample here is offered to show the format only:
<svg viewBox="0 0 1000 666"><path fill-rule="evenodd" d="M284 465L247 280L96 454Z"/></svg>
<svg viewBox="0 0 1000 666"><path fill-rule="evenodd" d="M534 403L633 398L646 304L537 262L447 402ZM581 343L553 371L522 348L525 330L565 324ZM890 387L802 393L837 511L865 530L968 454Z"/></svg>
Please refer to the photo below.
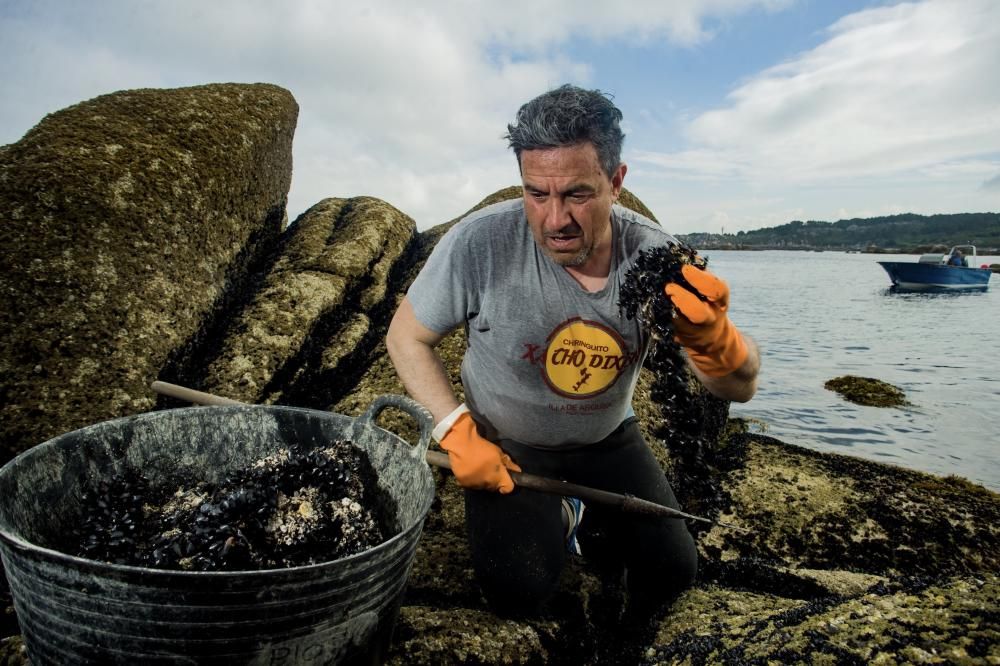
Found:
<svg viewBox="0 0 1000 666"><path fill-rule="evenodd" d="M273 85L130 90L0 151L3 459L153 406L277 244L297 115Z"/></svg>

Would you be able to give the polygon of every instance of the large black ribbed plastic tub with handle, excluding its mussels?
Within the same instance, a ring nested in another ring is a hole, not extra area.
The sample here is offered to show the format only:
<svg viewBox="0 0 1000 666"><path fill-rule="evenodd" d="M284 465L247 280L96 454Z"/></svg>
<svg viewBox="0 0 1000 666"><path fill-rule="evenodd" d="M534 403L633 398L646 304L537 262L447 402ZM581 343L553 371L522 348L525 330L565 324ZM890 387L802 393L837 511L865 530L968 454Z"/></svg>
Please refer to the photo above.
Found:
<svg viewBox="0 0 1000 666"><path fill-rule="evenodd" d="M420 424L412 446L374 424L386 407ZM357 419L279 406L192 407L61 435L0 469L0 555L33 664L380 663L434 497L431 418L402 396ZM166 571L67 555L38 543L80 520L80 495L127 464L155 482L214 481L291 444L349 439L398 506L400 530L323 564L242 572Z"/></svg>

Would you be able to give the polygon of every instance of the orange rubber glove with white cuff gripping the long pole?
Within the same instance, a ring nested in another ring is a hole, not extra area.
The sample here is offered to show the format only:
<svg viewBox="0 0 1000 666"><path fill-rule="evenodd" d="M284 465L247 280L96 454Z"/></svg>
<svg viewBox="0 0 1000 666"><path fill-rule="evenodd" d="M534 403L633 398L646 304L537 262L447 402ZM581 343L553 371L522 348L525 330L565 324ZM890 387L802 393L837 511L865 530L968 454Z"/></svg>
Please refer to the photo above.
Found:
<svg viewBox="0 0 1000 666"><path fill-rule="evenodd" d="M432 434L448 452L451 471L463 488L498 490L503 495L513 492L514 480L507 470L520 472L521 468L503 449L479 436L468 407L459 406Z"/></svg>

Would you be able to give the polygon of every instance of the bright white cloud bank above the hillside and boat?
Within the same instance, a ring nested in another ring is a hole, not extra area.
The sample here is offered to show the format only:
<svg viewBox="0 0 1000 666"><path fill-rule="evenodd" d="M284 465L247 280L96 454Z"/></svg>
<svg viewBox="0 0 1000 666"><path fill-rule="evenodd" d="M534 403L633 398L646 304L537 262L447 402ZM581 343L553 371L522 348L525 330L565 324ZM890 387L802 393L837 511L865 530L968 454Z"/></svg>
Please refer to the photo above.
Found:
<svg viewBox="0 0 1000 666"><path fill-rule="evenodd" d="M850 180L1000 154L1000 3L938 0L870 9L829 39L735 89L730 105L689 125L697 149L677 162L715 175L691 155L716 152L762 182Z"/></svg>

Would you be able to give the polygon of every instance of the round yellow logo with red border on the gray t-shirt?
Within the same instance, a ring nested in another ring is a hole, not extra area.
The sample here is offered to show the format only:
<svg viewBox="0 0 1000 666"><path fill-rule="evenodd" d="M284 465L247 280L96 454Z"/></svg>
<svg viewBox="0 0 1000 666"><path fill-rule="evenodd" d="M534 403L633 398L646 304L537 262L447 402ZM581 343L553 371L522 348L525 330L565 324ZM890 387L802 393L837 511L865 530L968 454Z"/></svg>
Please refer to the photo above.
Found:
<svg viewBox="0 0 1000 666"><path fill-rule="evenodd" d="M542 376L556 393L567 398L592 398L618 379L631 358L617 332L575 317L546 340Z"/></svg>

